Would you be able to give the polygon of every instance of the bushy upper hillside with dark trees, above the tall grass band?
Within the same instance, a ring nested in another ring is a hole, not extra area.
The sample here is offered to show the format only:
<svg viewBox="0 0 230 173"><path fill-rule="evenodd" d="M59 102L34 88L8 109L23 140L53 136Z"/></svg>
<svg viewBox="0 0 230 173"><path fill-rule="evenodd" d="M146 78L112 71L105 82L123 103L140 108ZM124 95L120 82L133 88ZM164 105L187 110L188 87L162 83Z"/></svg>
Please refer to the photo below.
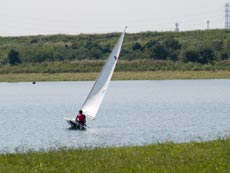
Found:
<svg viewBox="0 0 230 173"><path fill-rule="evenodd" d="M0 37L0 64L104 60L120 33ZM215 64L230 59L230 31L126 34L122 60Z"/></svg>

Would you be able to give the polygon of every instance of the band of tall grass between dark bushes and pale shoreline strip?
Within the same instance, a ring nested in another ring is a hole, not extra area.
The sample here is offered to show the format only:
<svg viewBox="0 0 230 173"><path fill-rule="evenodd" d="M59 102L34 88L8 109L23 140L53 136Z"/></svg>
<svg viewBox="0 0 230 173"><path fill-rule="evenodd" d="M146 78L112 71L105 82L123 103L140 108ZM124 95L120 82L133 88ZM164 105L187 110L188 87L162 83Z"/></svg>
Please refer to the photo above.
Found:
<svg viewBox="0 0 230 173"><path fill-rule="evenodd" d="M0 74L8 73L77 73L99 72L104 65L103 60L82 60L72 62L43 62L20 65L0 65ZM229 70L230 61L220 61L215 64L182 63L173 61L153 60L119 60L117 72L143 71L217 71Z"/></svg>

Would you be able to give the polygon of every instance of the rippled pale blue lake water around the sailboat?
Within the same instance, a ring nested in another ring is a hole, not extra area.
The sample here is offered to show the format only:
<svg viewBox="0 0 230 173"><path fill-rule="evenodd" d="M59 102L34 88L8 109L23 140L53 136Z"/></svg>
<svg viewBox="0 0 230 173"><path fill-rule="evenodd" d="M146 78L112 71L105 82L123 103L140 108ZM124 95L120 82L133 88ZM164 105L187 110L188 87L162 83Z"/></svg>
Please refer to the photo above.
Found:
<svg viewBox="0 0 230 173"><path fill-rule="evenodd" d="M69 130L86 82L0 83L0 152L146 145L230 136L230 80L112 81L86 131Z"/></svg>

